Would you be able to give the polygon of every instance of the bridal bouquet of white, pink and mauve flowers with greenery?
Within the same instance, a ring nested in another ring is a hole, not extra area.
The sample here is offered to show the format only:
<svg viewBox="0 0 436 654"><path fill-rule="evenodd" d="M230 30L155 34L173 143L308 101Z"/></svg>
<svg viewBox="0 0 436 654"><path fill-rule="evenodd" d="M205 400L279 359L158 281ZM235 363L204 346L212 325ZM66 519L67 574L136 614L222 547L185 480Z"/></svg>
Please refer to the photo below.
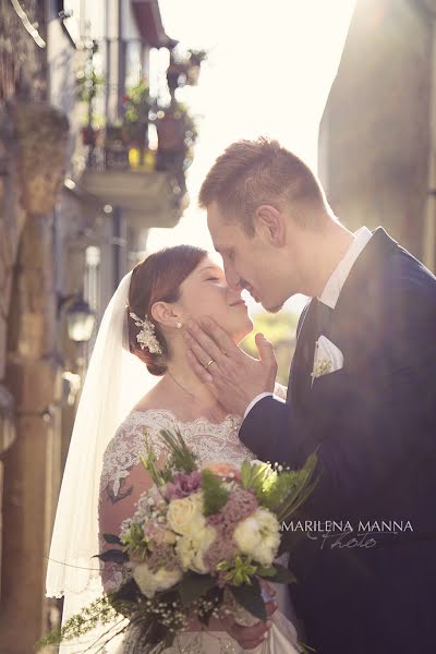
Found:
<svg viewBox="0 0 436 654"><path fill-rule="evenodd" d="M118 633L125 631L126 651L157 654L192 620L198 630L222 613L265 621L262 580L295 581L275 559L281 525L317 483L316 455L296 471L261 461L244 461L240 469L201 468L180 432L160 436L170 452L165 468L157 468L148 447L142 462L154 485L120 534L104 534L117 547L96 555L121 566L125 581L38 641L37 649L124 617L129 621Z"/></svg>

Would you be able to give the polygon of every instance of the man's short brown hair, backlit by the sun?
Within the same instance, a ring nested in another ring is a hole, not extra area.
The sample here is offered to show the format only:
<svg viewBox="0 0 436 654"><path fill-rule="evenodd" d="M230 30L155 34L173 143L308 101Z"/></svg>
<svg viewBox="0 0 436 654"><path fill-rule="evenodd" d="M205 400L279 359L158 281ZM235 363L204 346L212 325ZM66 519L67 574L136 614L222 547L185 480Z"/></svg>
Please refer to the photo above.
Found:
<svg viewBox="0 0 436 654"><path fill-rule="evenodd" d="M288 206L307 227L316 227L311 218L328 206L308 166L278 141L265 137L237 141L218 157L198 195L202 209L214 201L230 219L241 218L247 234L254 232L254 214L262 204Z"/></svg>

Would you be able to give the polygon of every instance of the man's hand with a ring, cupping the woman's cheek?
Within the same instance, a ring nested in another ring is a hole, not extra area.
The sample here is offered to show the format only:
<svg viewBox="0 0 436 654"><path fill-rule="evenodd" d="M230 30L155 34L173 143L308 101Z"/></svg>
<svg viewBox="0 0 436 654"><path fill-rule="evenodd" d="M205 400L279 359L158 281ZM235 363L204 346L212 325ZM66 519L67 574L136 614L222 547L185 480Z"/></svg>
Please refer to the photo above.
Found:
<svg viewBox="0 0 436 654"><path fill-rule="evenodd" d="M190 320L184 337L193 370L229 413L244 415L254 398L274 392L277 362L272 346L263 334L256 335L259 359L235 346L213 318L203 318L201 325Z"/></svg>

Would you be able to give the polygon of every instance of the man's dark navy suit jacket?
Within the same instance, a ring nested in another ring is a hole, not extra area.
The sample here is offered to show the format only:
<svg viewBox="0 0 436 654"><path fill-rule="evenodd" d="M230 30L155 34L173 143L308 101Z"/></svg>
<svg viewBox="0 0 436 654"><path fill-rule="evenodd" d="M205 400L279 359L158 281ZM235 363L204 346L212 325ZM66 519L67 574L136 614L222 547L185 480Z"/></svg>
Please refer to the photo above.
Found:
<svg viewBox="0 0 436 654"><path fill-rule="evenodd" d="M436 278L378 228L324 330L343 367L307 392L314 304L300 319L288 402L257 402L240 437L292 468L319 445L303 519L409 520L413 533L372 548L300 541L291 594L306 643L320 654L436 652Z"/></svg>

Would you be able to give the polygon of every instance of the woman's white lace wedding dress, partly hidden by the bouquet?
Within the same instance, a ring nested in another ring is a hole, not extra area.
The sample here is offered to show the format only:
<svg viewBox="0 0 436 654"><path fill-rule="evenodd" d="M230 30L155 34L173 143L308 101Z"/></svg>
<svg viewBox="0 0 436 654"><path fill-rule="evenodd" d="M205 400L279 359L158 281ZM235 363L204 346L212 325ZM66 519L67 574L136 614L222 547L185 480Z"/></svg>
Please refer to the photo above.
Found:
<svg viewBox="0 0 436 654"><path fill-rule="evenodd" d="M276 393L286 395L283 387L276 387ZM193 422L180 422L168 410L132 411L120 425L117 434L109 443L104 457L100 483L100 494L111 494L112 498L124 493L125 499L119 506L130 500L129 488L132 471L140 470L141 455L145 451L146 441L150 443L158 456L164 448L158 434L160 429L180 429L187 446L194 451L202 464L228 462L241 465L244 459L256 457L240 441L238 434L242 420L239 416L227 416L221 423L215 424L206 419ZM142 471L144 476L144 472ZM128 506L128 505L126 505ZM133 514L134 509L126 510L125 518ZM102 543L101 543L102 545ZM122 581L120 572L111 573L106 580L106 589L117 588ZM268 639L259 645L256 654L296 654L296 632L291 617L291 605L287 586L277 585L279 609L272 617L272 627ZM125 654L123 638L117 637L107 646L107 654ZM177 638L174 645L165 650L166 654L237 654L243 652L238 643L225 631L184 632Z"/></svg>

